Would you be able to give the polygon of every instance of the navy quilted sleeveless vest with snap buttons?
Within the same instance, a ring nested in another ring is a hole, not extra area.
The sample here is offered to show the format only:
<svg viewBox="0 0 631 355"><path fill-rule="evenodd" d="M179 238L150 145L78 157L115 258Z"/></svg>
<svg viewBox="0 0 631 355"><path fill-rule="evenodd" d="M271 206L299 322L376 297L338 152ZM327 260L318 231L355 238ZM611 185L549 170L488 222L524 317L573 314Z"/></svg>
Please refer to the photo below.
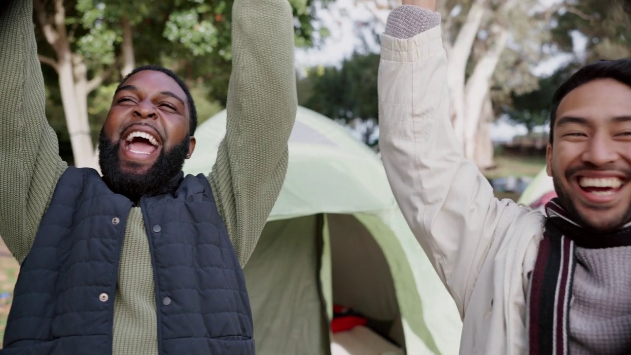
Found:
<svg viewBox="0 0 631 355"><path fill-rule="evenodd" d="M254 354L245 278L206 178L142 198L160 355ZM114 294L133 203L69 167L21 265L3 355L112 353Z"/></svg>

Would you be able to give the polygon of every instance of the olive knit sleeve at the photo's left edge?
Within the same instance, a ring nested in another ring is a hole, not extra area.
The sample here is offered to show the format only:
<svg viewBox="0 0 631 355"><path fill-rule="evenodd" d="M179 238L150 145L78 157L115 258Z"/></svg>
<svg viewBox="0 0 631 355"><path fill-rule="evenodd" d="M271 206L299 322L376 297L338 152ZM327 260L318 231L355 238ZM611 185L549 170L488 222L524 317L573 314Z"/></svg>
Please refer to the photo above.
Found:
<svg viewBox="0 0 631 355"><path fill-rule="evenodd" d="M0 14L0 236L22 262L66 164L45 117L32 0Z"/></svg>

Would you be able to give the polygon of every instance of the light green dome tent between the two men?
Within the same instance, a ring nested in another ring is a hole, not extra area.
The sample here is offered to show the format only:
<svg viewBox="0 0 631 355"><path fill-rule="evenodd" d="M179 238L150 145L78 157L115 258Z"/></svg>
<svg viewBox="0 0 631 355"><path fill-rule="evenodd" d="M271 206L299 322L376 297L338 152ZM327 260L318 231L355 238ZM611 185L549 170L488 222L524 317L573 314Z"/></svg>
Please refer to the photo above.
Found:
<svg viewBox="0 0 631 355"><path fill-rule="evenodd" d="M225 124L222 111L199 126L186 173L211 170ZM244 268L256 353L457 354L456 306L375 153L304 107L289 151L285 183ZM367 323L333 334L336 304Z"/></svg>

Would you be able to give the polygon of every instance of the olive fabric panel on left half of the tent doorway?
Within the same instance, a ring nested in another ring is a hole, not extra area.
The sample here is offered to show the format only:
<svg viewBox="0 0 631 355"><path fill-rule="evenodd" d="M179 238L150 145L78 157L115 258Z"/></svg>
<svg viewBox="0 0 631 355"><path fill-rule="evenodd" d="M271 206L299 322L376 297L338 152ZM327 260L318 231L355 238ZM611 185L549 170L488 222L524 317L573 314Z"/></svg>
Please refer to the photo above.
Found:
<svg viewBox="0 0 631 355"><path fill-rule="evenodd" d="M268 222L245 265L257 355L329 354L317 215Z"/></svg>

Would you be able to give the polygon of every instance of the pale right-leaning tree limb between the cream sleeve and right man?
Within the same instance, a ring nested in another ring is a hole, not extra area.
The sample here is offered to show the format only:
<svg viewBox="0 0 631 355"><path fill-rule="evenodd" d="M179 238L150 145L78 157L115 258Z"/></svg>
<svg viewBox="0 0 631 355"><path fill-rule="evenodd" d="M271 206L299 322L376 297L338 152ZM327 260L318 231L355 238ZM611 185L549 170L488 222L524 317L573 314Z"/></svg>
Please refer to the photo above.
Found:
<svg viewBox="0 0 631 355"><path fill-rule="evenodd" d="M506 47L508 31L498 27L495 44L478 61L473 74L467 81L465 94L466 118L464 130L464 155L467 159L475 159L476 131L480 123L485 99L488 96L490 81L500 60L500 55Z"/></svg>

